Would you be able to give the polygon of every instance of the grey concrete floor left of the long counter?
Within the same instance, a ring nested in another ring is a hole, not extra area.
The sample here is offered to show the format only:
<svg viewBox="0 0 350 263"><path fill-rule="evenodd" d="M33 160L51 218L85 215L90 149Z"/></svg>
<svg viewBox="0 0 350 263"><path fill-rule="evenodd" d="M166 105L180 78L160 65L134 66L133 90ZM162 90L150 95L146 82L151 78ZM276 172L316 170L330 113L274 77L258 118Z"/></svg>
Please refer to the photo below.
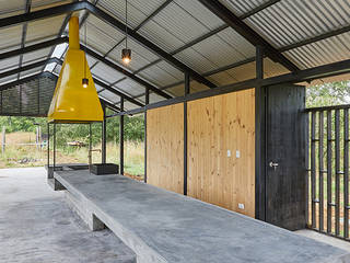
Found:
<svg viewBox="0 0 350 263"><path fill-rule="evenodd" d="M0 170L0 262L136 262L109 230L92 232L46 183L44 168Z"/></svg>

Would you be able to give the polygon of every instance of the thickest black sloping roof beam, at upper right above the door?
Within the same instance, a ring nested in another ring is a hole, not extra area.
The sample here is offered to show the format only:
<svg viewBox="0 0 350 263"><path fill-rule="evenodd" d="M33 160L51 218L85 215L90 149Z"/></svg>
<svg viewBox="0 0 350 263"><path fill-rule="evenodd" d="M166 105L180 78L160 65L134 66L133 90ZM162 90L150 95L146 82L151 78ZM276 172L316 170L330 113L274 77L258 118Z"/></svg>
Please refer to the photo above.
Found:
<svg viewBox="0 0 350 263"><path fill-rule="evenodd" d="M271 44L265 41L259 34L252 30L245 22L238 16L233 14L225 5L219 0L199 0L206 8L217 14L228 25L234 28L240 35L246 38L254 46L262 46L266 50L266 55L273 61L278 61L283 67L292 72L299 71L300 69L281 53L279 53Z"/></svg>

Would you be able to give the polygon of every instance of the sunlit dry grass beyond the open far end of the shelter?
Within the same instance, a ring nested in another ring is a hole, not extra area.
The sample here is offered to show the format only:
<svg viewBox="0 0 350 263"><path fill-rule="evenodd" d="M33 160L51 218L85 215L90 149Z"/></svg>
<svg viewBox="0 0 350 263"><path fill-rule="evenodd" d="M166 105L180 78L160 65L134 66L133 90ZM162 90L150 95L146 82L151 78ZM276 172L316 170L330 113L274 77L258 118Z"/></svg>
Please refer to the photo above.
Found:
<svg viewBox="0 0 350 263"><path fill-rule="evenodd" d="M0 135L1 137L1 135ZM1 139L1 138L0 138ZM0 140L1 141L1 140ZM47 163L47 151L38 149L34 144L35 134L32 133L13 133L7 134L7 147L4 153L0 151L0 168L14 167L40 167ZM93 149L101 149L101 145L96 145ZM52 158L52 151L50 157ZM92 153L93 162L101 162L101 152ZM88 163L88 147L65 147L57 149L57 163ZM52 159L50 160L52 162ZM115 142L107 144L107 162L119 163L119 145ZM131 175L143 178L144 169L144 150L143 142L126 141L125 142L125 172Z"/></svg>

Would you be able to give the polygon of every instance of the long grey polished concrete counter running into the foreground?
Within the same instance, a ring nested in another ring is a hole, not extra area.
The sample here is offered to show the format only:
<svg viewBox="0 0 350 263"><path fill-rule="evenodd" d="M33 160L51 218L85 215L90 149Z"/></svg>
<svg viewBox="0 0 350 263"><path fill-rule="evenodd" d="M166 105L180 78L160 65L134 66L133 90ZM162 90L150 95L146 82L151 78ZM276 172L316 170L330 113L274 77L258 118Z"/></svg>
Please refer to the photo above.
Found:
<svg viewBox="0 0 350 263"><path fill-rule="evenodd" d="M55 179L138 262L350 262L343 250L126 176L57 171Z"/></svg>

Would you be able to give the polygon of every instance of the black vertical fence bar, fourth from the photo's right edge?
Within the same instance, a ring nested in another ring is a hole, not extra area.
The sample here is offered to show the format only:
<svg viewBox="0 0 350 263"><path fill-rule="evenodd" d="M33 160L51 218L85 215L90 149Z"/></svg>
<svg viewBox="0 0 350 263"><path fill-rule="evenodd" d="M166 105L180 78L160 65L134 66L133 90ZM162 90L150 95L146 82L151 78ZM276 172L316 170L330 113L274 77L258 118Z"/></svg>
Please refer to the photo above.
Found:
<svg viewBox="0 0 350 263"><path fill-rule="evenodd" d="M319 193L318 193L318 221L319 231L324 231L324 112L319 112L319 130L318 130L318 179L319 179Z"/></svg>

